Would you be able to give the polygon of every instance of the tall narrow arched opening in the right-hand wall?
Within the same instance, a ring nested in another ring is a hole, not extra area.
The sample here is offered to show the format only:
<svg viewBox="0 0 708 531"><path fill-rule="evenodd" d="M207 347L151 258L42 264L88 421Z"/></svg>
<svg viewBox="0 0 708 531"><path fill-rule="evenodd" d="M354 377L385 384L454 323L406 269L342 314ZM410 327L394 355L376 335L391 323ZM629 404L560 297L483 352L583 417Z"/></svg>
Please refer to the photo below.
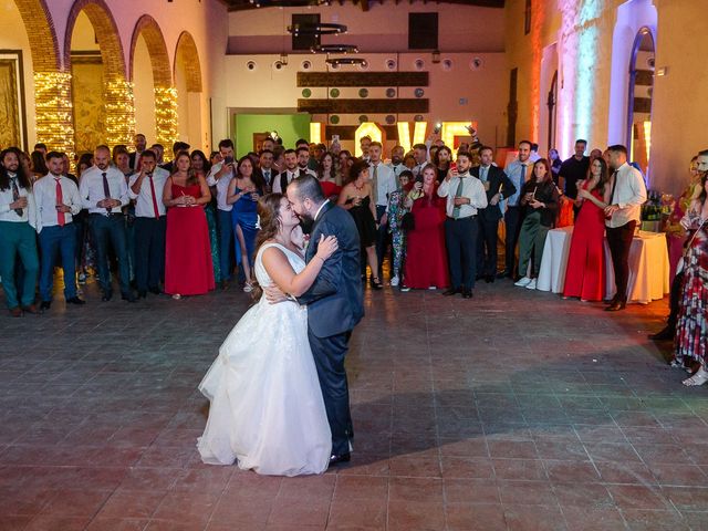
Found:
<svg viewBox="0 0 708 531"><path fill-rule="evenodd" d="M647 175L649 169L652 146L655 54L652 30L642 28L634 39L629 59L626 144L629 149L629 160L638 163L644 175Z"/></svg>

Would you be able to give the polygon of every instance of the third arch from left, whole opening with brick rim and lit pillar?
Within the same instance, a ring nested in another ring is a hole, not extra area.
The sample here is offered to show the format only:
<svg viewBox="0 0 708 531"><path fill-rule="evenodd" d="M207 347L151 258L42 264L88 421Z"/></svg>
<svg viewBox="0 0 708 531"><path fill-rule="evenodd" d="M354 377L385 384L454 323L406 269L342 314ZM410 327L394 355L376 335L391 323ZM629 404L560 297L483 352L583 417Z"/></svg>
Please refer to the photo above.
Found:
<svg viewBox="0 0 708 531"><path fill-rule="evenodd" d="M149 14L135 24L129 64L136 132L169 148L177 139L177 90L163 32Z"/></svg>

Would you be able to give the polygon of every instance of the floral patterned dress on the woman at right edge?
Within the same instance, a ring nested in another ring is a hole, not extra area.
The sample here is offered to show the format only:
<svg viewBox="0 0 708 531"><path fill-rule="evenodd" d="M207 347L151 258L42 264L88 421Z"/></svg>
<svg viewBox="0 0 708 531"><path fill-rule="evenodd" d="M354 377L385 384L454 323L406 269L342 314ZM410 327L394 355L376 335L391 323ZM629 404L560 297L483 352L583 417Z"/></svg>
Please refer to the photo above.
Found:
<svg viewBox="0 0 708 531"><path fill-rule="evenodd" d="M708 222L687 250L684 289L676 326L676 357L708 367Z"/></svg>

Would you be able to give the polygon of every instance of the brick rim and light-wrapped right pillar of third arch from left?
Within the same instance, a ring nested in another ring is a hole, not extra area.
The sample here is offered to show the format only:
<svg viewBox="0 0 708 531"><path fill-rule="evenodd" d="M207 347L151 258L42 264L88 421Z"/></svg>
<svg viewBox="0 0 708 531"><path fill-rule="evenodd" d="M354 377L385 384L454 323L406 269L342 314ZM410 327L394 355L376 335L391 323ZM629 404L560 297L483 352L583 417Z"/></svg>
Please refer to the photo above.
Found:
<svg viewBox="0 0 708 531"><path fill-rule="evenodd" d="M177 139L177 90L167 54L167 45L159 25L149 14L135 24L131 40L129 76L135 85L135 50L143 37L150 58L155 94L155 137L158 144L170 146Z"/></svg>

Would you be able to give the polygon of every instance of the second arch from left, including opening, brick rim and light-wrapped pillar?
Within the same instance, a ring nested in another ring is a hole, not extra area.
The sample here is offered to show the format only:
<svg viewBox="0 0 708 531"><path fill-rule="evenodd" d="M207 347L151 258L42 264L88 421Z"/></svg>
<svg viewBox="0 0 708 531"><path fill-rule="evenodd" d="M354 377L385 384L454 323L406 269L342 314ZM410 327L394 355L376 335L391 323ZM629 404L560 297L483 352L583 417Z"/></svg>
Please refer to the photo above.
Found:
<svg viewBox="0 0 708 531"><path fill-rule="evenodd" d="M131 144L135 134L133 85L126 80L117 25L103 0L76 0L72 7L64 65L72 72L76 148Z"/></svg>

